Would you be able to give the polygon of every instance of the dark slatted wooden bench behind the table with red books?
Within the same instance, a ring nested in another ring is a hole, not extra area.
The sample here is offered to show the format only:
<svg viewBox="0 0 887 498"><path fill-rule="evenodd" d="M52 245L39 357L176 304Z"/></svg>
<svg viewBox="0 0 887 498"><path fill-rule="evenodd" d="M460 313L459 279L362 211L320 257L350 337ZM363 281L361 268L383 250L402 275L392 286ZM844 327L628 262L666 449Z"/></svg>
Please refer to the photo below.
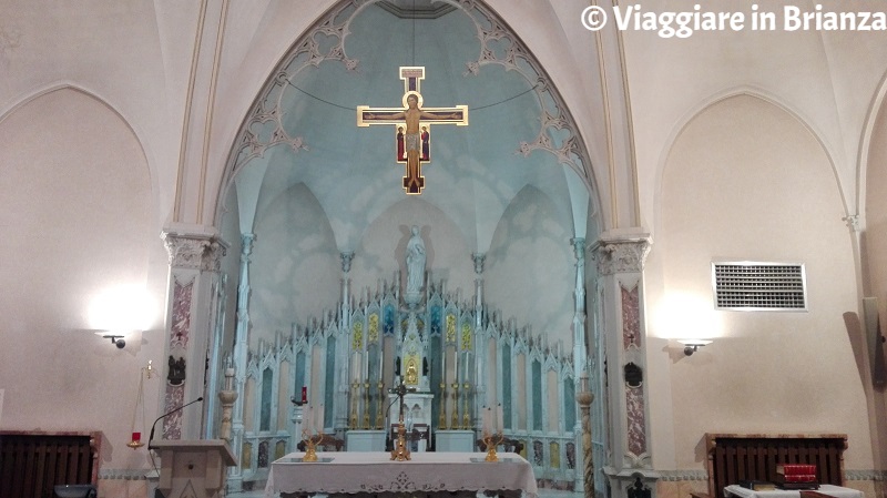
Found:
<svg viewBox="0 0 887 498"><path fill-rule="evenodd" d="M708 492L696 498L724 498L724 488L741 480L776 480L779 464L816 466L819 484L844 485L846 434L705 434Z"/></svg>

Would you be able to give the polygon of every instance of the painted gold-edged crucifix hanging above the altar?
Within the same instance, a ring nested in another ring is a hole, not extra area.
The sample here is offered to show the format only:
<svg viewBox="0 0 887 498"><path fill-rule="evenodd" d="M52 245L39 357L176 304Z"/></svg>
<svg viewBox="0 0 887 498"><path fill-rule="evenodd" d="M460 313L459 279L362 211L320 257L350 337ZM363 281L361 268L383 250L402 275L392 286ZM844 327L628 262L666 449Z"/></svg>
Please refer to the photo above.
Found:
<svg viewBox="0 0 887 498"><path fill-rule="evenodd" d="M468 125L468 105L422 109L419 83L425 79L425 68L401 67L404 80L404 108L357 106L357 125L395 125L395 160L406 164L404 190L419 195L425 189L422 163L431 162L431 124Z"/></svg>

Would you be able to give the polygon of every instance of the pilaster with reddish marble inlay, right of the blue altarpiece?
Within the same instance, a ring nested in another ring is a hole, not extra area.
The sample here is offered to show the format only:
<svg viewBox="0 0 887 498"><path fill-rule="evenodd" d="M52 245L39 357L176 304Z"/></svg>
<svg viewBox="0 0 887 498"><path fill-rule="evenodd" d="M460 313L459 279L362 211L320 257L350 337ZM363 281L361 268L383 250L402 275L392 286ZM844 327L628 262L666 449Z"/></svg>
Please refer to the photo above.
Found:
<svg viewBox="0 0 887 498"><path fill-rule="evenodd" d="M646 387L646 333L643 321L643 265L650 252L646 234L608 236L591 247L603 288L606 335L610 460L603 467L613 496L625 496L641 479L655 490ZM655 495L655 491L654 491Z"/></svg>

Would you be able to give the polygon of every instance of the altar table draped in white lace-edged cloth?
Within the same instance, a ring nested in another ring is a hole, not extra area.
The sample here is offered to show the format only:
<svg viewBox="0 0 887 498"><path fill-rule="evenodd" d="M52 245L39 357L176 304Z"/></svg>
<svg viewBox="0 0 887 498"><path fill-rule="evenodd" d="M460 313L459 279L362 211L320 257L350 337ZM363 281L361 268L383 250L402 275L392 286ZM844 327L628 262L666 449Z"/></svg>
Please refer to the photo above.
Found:
<svg viewBox="0 0 887 498"><path fill-rule="evenodd" d="M412 453L411 460L392 461L384 451L318 451L316 463L293 453L272 463L265 498L287 495L426 495L493 491L538 498L533 468L520 455L500 453Z"/></svg>

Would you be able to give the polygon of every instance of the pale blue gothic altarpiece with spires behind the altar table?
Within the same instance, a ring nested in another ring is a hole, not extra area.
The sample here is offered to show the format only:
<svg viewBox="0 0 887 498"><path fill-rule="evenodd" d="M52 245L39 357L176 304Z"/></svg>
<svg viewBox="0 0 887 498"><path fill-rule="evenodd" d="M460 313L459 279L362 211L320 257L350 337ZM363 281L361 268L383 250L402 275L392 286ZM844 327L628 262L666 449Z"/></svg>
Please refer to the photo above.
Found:
<svg viewBox="0 0 887 498"><path fill-rule="evenodd" d="M410 266L408 254L404 292L395 272L392 283L373 295L365 289L357 303L351 257L341 255L347 298L335 312L230 359L244 400L233 415L239 466L232 488L261 486L271 463L296 450L304 406L324 405L323 430L345 439L346 450L386 450L385 428L397 424L400 408L390 390L401 383L414 450L477 451L482 410L501 405L504 434L523 441L538 479L563 487L581 479L572 350L487 309L482 255L473 256L473 298L426 282L424 257Z"/></svg>

